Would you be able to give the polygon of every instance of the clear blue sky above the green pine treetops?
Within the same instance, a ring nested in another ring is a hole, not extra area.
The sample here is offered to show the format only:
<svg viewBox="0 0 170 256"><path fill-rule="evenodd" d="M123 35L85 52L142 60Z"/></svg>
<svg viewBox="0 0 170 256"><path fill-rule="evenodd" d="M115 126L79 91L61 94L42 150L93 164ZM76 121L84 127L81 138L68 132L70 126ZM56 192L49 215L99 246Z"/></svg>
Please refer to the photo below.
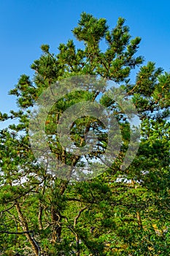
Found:
<svg viewBox="0 0 170 256"><path fill-rule="evenodd" d="M0 0L0 111L15 108L8 96L23 73L41 55L40 45L56 53L60 42L72 38L82 11L106 18L110 28L126 19L133 37L142 37L139 54L170 71L170 2L130 0Z"/></svg>

